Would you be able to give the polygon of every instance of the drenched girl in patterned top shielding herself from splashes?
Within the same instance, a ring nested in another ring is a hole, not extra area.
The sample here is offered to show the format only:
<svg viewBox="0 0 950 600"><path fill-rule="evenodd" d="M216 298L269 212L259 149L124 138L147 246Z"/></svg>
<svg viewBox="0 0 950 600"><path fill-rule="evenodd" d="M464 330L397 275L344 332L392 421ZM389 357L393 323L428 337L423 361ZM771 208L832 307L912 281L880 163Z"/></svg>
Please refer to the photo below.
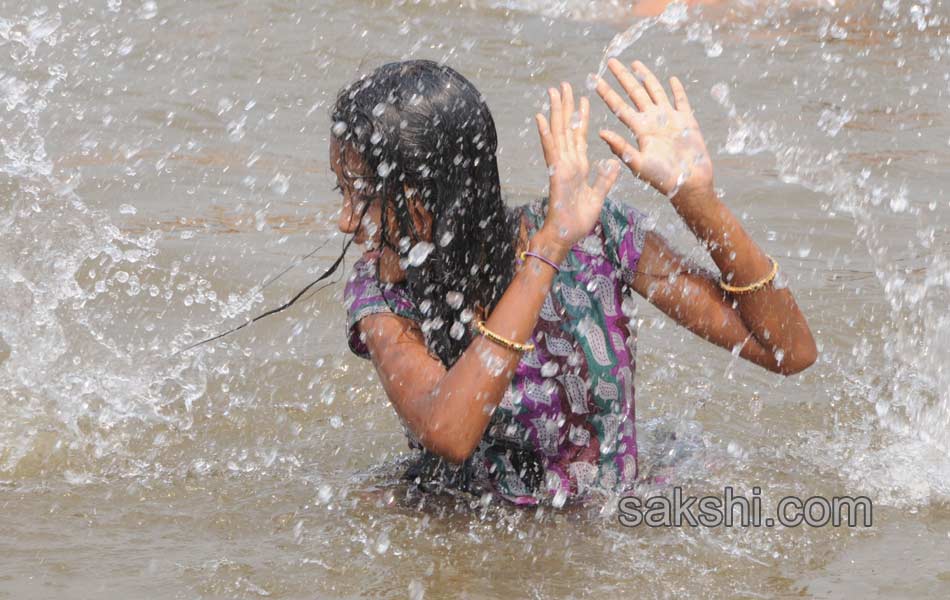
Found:
<svg viewBox="0 0 950 600"><path fill-rule="evenodd" d="M812 364L815 343L777 263L713 191L680 82L671 101L641 63L612 60L627 99L597 92L633 133L600 137L670 200L722 277L686 269L644 215L589 183L586 98L549 90L537 115L549 197L502 201L491 113L429 61L387 64L346 87L330 161L340 230L365 252L345 289L350 348L370 358L421 458L423 489L555 506L621 492L637 475L635 291L677 323L771 371ZM632 102L631 104L628 102ZM576 111L576 113L575 113Z"/></svg>

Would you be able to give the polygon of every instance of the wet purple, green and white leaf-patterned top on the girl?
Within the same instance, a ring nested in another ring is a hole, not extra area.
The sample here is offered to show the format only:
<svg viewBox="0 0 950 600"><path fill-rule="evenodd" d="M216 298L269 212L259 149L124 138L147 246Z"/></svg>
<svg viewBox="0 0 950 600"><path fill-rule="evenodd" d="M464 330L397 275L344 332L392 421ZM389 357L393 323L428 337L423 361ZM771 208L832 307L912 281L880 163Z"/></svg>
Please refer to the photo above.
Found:
<svg viewBox="0 0 950 600"><path fill-rule="evenodd" d="M510 208L540 228L547 200ZM490 491L516 504L555 506L637 476L634 428L636 318L628 286L646 235L639 210L607 199L600 222L561 263L525 353L475 453L461 466L431 453L407 473L423 487ZM399 285L381 287L357 262L346 285L351 350L368 357L357 323L390 311L421 321ZM407 430L411 447L421 448Z"/></svg>

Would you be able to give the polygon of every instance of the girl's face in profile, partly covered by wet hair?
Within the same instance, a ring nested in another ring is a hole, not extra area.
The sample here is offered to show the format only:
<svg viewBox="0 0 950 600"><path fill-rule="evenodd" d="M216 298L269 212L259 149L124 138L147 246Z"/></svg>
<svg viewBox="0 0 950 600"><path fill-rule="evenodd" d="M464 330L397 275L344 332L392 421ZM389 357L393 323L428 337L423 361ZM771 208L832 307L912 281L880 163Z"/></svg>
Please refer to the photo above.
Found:
<svg viewBox="0 0 950 600"><path fill-rule="evenodd" d="M359 155L344 147L337 139L330 141L330 167L336 174L337 184L343 193L339 228L343 233L353 234L353 241L364 246L363 256L370 261L379 261L379 278L387 283L405 281L406 271L399 265L399 254L382 244L382 198L374 192L375 179ZM360 220L365 204L369 208ZM428 241L431 237L431 217L410 201L416 230ZM390 243L399 239L399 224L393 210L387 211L386 237Z"/></svg>

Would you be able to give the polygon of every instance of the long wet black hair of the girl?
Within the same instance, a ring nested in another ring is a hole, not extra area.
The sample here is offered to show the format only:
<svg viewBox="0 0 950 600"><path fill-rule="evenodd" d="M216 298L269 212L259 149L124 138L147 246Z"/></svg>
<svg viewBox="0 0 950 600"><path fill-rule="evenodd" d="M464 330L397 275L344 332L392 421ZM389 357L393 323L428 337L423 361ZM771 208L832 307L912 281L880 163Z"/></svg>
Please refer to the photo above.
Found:
<svg viewBox="0 0 950 600"><path fill-rule="evenodd" d="M355 151L368 170L359 194L382 202L381 243L404 259L426 343L451 366L471 342L467 311L490 312L514 271L517 223L501 196L488 105L457 71L413 60L343 88L332 119L341 150ZM415 229L407 194L432 217L429 242ZM385 227L390 214L395 239Z"/></svg>

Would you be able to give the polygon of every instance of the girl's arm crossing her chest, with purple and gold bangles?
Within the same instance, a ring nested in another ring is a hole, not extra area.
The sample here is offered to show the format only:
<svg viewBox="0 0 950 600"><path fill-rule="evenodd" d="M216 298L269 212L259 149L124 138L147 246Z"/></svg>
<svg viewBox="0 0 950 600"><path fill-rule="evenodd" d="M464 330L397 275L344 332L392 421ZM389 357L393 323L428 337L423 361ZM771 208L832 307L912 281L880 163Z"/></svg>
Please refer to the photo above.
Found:
<svg viewBox="0 0 950 600"><path fill-rule="evenodd" d="M530 249L555 264L593 229L620 165L600 169L588 185L587 124L590 105L580 102L579 126L572 127L574 98L568 84L549 90L550 123L537 115L538 132L550 175L544 225ZM533 258L517 270L487 321L496 334L523 343L534 331L555 271ZM422 444L452 462L462 462L478 446L514 376L521 354L476 336L451 369L431 356L418 325L391 314L359 322L386 394Z"/></svg>

